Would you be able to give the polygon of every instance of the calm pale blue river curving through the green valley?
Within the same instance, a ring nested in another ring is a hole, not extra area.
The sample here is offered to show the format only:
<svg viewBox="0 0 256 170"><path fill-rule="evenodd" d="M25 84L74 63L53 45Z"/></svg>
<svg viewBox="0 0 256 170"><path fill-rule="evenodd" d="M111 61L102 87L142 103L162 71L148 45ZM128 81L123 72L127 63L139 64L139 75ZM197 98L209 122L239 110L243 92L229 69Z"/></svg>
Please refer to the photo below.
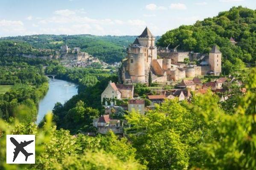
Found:
<svg viewBox="0 0 256 170"><path fill-rule="evenodd" d="M60 79L49 79L49 90L38 106L36 124L39 124L44 115L53 110L56 102L64 104L72 96L77 94L77 85Z"/></svg>

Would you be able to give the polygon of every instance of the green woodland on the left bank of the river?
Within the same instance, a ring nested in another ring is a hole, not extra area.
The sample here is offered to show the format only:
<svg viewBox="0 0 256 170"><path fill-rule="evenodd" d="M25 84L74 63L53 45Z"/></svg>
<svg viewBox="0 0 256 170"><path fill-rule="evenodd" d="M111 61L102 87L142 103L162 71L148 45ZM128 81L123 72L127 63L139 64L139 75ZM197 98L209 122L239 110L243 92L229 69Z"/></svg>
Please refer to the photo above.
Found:
<svg viewBox="0 0 256 170"><path fill-rule="evenodd" d="M47 93L43 65L47 61L24 57L0 57L0 86L11 89L0 94L0 118L34 122L39 100Z"/></svg>

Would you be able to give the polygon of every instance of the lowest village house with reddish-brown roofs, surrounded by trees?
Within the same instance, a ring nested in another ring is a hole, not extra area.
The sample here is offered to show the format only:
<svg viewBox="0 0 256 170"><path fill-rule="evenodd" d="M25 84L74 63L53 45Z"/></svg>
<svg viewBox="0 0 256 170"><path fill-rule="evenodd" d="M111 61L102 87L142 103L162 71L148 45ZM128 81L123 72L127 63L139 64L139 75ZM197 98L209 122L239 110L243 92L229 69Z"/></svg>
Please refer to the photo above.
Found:
<svg viewBox="0 0 256 170"><path fill-rule="evenodd" d="M92 124L94 127L97 127L97 133L106 134L109 130L117 134L124 133L120 120L111 119L109 115L103 115L97 119L93 119Z"/></svg>

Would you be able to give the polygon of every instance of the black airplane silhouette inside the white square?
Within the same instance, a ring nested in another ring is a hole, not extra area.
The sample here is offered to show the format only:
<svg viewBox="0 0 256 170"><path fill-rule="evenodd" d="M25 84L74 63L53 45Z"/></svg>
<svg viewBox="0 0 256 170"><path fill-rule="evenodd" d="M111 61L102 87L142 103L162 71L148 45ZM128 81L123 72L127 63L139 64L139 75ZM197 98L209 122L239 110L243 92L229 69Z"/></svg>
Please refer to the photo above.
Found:
<svg viewBox="0 0 256 170"><path fill-rule="evenodd" d="M16 148L14 149L15 152L13 152L13 153L14 153L14 156L13 156L13 161L12 161L12 162L15 161L15 159L17 158L17 156L18 156L18 154L19 154L20 152L23 153L24 156L26 156L25 161L27 160L27 158L28 158L30 155L33 155L33 153L28 153L28 152L24 149L24 147L25 147L26 145L32 143L33 140L28 141L28 142L24 141L24 142L21 142L21 143L17 142L13 137L11 137L10 140L11 140L11 142L16 146Z"/></svg>

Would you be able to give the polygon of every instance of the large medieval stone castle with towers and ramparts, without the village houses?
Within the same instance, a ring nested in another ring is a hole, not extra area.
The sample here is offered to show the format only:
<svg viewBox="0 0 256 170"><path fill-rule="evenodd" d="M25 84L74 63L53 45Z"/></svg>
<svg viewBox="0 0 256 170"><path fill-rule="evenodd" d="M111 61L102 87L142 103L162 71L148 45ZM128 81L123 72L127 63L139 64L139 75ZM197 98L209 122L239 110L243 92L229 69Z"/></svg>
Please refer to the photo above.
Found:
<svg viewBox="0 0 256 170"><path fill-rule="evenodd" d="M166 50L157 51L156 38L146 27L141 35L127 48L127 57L119 68L119 78L123 83L148 82L149 73L153 82L177 81L185 77L198 77L221 73L221 51L214 45L209 57L200 65L188 65L189 52Z"/></svg>

